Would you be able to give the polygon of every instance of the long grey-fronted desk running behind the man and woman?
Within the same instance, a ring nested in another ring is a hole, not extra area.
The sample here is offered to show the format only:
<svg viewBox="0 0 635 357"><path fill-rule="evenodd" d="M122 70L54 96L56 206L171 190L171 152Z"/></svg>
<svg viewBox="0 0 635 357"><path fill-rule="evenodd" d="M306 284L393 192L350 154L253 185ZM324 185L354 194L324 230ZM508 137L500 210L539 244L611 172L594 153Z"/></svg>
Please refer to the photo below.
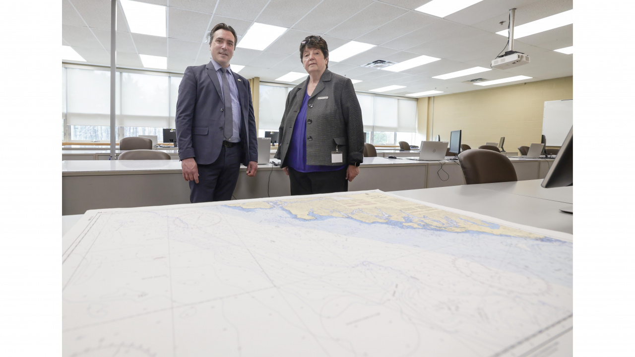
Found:
<svg viewBox="0 0 635 357"><path fill-rule="evenodd" d="M512 159L512 163L520 180L544 177L537 160ZM258 165L256 177L246 176L244 166L240 170L234 190L236 199L290 194L289 179L277 166ZM543 171L546 175L546 170ZM359 176L349 183L349 191L400 191L464 184L457 162L364 158ZM62 161L63 215L95 208L189 203L189 192L177 160Z"/></svg>

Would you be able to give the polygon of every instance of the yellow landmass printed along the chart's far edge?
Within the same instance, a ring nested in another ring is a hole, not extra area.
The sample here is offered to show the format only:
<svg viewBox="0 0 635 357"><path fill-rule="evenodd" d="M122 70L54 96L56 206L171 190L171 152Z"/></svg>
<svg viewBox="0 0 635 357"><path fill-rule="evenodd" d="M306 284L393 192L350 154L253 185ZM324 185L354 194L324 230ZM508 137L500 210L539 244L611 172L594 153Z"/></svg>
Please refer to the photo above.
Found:
<svg viewBox="0 0 635 357"><path fill-rule="evenodd" d="M270 203L271 202L271 203ZM272 204L274 203L274 204ZM279 206L293 213L298 219L312 220L318 216L351 218L366 223L403 222L413 228L432 228L448 232L475 231L519 238L544 238L520 229L493 226L458 213L420 205L406 199L387 196L380 192L322 196L315 198L291 198L277 201L236 203L228 206L241 208L273 208Z"/></svg>

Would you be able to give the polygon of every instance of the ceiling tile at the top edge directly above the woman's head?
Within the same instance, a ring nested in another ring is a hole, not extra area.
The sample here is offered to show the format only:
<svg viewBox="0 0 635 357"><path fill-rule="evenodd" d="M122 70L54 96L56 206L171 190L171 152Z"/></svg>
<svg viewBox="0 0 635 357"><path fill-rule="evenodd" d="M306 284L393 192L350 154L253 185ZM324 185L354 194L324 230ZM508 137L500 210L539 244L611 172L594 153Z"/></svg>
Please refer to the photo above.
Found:
<svg viewBox="0 0 635 357"><path fill-rule="evenodd" d="M324 34L372 3L371 0L324 0L293 29Z"/></svg>

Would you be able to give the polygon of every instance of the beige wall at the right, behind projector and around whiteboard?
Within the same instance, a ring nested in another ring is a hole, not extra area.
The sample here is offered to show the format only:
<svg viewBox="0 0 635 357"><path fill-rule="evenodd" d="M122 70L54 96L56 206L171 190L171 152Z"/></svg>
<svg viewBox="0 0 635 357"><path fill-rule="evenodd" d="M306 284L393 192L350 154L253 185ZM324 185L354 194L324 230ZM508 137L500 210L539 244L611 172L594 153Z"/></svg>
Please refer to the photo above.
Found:
<svg viewBox="0 0 635 357"><path fill-rule="evenodd" d="M520 145L540 142L544 102L572 98L573 76L420 98L418 102L426 102L428 109L423 126L428 128L428 140L437 134L443 141L450 140L450 131L460 129L462 144L472 149L505 137L505 150L518 151ZM418 102L417 109L424 106Z"/></svg>

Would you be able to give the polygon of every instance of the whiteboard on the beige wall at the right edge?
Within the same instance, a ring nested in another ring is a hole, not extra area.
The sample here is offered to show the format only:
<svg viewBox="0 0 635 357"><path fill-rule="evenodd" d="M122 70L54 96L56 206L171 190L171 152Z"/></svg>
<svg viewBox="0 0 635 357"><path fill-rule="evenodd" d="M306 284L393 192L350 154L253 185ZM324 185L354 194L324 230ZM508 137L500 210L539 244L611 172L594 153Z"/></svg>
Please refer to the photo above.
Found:
<svg viewBox="0 0 635 357"><path fill-rule="evenodd" d="M561 146L573 125L573 99L545 102L542 115L542 135L546 146Z"/></svg>

